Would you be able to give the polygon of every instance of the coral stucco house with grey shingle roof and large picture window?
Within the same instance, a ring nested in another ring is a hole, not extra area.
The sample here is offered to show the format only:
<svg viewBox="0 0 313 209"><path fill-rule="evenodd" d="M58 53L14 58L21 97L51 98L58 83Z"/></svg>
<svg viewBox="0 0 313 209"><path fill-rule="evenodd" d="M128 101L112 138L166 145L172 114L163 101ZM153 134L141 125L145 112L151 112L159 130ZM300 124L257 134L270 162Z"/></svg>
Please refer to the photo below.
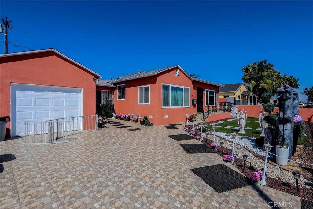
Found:
<svg viewBox="0 0 313 209"><path fill-rule="evenodd" d="M96 86L102 97L113 97L116 113L139 113L154 125L165 125L184 122L187 115L214 105L218 102L218 88L223 85L192 78L174 65L100 80Z"/></svg>

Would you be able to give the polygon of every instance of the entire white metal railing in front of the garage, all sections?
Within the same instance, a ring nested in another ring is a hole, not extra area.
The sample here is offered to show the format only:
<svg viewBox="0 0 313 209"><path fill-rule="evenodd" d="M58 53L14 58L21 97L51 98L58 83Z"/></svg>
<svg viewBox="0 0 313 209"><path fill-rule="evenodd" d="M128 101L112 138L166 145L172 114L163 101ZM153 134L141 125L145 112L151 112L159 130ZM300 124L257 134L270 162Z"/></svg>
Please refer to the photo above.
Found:
<svg viewBox="0 0 313 209"><path fill-rule="evenodd" d="M68 142L75 133L98 130L97 115L58 118L49 121L25 122L24 144L50 144Z"/></svg>

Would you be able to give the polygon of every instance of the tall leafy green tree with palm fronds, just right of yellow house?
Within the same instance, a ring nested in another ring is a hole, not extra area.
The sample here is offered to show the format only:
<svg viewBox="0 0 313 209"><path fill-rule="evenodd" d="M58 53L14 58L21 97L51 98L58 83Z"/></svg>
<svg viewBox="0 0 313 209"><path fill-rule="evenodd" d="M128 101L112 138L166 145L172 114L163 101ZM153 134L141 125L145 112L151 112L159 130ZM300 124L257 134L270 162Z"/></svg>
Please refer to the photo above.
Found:
<svg viewBox="0 0 313 209"><path fill-rule="evenodd" d="M242 80L250 87L256 101L258 101L259 92L273 90L273 80L269 73L273 69L274 65L267 63L267 60L258 63L254 62L242 68L242 71L244 71Z"/></svg>

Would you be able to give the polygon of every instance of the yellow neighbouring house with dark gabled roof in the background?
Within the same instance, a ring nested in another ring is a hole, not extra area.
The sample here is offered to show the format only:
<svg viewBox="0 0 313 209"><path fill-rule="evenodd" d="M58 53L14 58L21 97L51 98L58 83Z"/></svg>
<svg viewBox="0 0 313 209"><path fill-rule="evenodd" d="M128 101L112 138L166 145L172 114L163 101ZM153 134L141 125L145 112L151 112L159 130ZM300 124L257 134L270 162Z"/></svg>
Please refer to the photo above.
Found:
<svg viewBox="0 0 313 209"><path fill-rule="evenodd" d="M237 105L254 105L255 96L244 83L223 84L219 87L218 98L235 98ZM227 99L228 100L228 99Z"/></svg>

